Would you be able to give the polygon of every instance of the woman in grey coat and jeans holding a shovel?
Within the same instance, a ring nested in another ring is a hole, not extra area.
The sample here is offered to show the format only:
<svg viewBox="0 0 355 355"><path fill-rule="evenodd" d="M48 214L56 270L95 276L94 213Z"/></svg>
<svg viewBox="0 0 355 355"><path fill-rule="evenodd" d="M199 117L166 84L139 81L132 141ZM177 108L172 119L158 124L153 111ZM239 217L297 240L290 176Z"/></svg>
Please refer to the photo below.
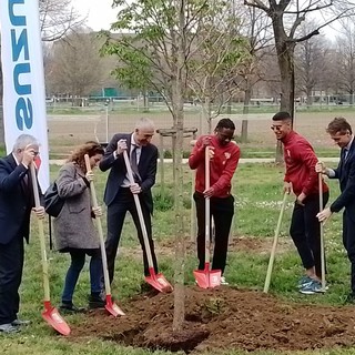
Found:
<svg viewBox="0 0 355 355"><path fill-rule="evenodd" d="M90 181L93 180L93 173L87 171L84 161L84 155L88 154L91 168L94 168L103 153L103 148L97 142L79 146L61 168L57 179L58 193L64 200L64 205L59 216L53 220L55 247L71 256L60 306L63 311L82 311L73 305L72 297L87 254L91 256L89 307L104 306L100 296L102 261L99 237L92 222L92 217L101 215L102 212L101 207L93 209L91 205Z"/></svg>

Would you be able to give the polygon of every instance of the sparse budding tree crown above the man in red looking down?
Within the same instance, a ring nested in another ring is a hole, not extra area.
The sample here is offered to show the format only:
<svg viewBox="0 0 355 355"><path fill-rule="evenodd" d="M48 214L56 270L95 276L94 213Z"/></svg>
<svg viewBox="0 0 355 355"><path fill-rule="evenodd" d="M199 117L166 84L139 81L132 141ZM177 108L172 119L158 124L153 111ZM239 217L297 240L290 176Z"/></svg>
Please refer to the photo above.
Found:
<svg viewBox="0 0 355 355"><path fill-rule="evenodd" d="M234 10L234 2L227 2L205 14L187 62L187 87L201 104L209 134L212 120L240 91L237 73L250 57L248 43L241 34L241 22Z"/></svg>

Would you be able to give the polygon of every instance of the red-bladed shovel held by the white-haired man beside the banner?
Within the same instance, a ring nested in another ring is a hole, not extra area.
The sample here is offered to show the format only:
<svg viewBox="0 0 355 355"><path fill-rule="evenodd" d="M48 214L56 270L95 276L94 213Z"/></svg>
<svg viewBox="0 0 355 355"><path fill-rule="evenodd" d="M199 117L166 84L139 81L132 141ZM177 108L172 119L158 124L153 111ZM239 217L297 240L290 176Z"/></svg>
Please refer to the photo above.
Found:
<svg viewBox="0 0 355 355"><path fill-rule="evenodd" d="M40 207L41 204L40 204L40 197L39 197L39 192L38 192L38 184L37 184L34 169L36 169L34 163L31 163L30 171L31 171L31 180L32 180L32 187L33 187L34 205L36 205L36 207ZM52 326L58 333L60 333L62 335L69 335L70 334L69 325L61 317L58 310L51 305L43 221L40 219L37 219L37 221L38 221L38 230L39 230L39 237L40 237L40 245L41 245L41 257L42 257L42 270L43 270L43 288L44 288L44 300L43 300L44 311L42 312L42 318L50 326Z"/></svg>

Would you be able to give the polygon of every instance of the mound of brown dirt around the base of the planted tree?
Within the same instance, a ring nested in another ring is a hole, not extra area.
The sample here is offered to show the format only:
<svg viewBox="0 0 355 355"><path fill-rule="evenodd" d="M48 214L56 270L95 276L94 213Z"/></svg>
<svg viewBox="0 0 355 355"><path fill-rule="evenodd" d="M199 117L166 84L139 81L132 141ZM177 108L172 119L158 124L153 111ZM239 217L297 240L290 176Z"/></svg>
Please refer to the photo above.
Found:
<svg viewBox="0 0 355 355"><path fill-rule="evenodd" d="M221 286L185 287L185 323L172 334L173 294L139 295L113 318L89 313L71 337L98 336L120 344L185 353L239 348L303 351L355 344L355 308L285 303L261 292Z"/></svg>

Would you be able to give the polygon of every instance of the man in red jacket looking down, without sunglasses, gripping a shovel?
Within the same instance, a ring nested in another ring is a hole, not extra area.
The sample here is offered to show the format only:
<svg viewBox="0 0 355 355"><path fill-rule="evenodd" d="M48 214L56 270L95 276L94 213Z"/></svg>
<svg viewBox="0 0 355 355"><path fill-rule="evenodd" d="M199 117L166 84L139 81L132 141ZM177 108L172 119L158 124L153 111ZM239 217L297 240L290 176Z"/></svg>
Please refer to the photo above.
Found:
<svg viewBox="0 0 355 355"><path fill-rule="evenodd" d="M231 180L240 160L240 149L231 140L235 125L230 119L217 123L214 135L202 135L190 158L189 165L196 169L195 193L197 215L197 256L199 270L204 268L205 256L205 199L210 197L211 215L215 226L215 245L212 270L221 270L221 284L227 284L223 272L226 263L229 235L234 214L234 197L231 195ZM205 189L205 148L210 149L210 189Z"/></svg>

